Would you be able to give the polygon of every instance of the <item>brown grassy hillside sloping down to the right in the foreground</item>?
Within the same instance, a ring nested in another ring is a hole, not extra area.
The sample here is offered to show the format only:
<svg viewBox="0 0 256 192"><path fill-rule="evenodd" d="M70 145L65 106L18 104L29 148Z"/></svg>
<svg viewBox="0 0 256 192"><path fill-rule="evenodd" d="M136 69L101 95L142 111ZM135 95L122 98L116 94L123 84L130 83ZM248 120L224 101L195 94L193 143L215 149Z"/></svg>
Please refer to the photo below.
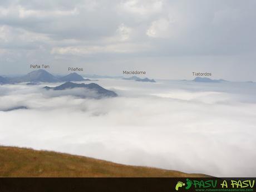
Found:
<svg viewBox="0 0 256 192"><path fill-rule="evenodd" d="M205 175L121 165L52 151L0 146L0 176L200 177Z"/></svg>

